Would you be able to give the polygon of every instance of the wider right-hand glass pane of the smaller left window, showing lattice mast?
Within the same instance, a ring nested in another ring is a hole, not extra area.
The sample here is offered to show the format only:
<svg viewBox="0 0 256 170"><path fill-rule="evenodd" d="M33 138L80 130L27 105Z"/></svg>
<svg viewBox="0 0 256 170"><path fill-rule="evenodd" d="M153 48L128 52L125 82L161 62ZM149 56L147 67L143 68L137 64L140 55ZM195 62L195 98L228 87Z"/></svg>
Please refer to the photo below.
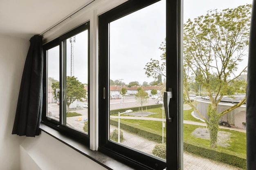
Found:
<svg viewBox="0 0 256 170"><path fill-rule="evenodd" d="M88 133L88 30L63 41L63 125Z"/></svg>

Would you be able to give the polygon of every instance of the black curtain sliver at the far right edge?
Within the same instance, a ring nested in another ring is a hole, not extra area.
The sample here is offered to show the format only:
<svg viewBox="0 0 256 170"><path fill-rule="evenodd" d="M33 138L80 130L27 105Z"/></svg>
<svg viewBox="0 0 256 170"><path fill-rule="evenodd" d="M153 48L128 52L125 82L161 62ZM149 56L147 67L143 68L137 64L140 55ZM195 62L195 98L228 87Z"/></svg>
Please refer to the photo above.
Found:
<svg viewBox="0 0 256 170"><path fill-rule="evenodd" d="M246 91L247 170L256 170L256 0L252 3Z"/></svg>

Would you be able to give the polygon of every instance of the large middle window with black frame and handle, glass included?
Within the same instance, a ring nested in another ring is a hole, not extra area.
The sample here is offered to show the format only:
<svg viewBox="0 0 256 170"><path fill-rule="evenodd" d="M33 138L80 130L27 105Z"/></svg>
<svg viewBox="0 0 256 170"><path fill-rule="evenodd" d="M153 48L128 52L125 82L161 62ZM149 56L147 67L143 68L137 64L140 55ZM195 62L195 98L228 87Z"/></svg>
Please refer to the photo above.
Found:
<svg viewBox="0 0 256 170"><path fill-rule="evenodd" d="M140 168L179 166L178 101L182 95L178 95L181 90L177 86L182 82L177 77L181 63L178 18L166 19L177 15L177 5L165 0L129 0L99 16L99 148ZM165 49L159 47L165 38L166 68L147 76L144 68L163 55ZM152 99L152 89L157 100ZM166 122L163 92L171 89L173 121ZM163 155L153 153L154 149Z"/></svg>

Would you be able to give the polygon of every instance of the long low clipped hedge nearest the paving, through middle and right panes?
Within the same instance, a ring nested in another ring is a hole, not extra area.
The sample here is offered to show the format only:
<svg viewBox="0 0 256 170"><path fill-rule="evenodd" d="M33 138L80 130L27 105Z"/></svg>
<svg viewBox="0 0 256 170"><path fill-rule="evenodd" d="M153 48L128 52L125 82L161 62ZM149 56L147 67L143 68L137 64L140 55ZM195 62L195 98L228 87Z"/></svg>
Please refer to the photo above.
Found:
<svg viewBox="0 0 256 170"><path fill-rule="evenodd" d="M118 121L110 118L110 124L113 126L118 126ZM140 137L144 137L150 141L155 141L157 143L162 143L162 133L141 127L136 124L132 124L130 122L120 122L120 127L130 133L136 134ZM166 143L166 137L164 137L164 142ZM246 170L246 157L243 154L239 154L236 152L219 152L216 149L207 148L198 143L188 143L186 141L183 142L183 150L186 152L193 153L200 157L208 158L211 160L219 161L222 163L227 163L232 166L236 166L238 168L243 168Z"/></svg>

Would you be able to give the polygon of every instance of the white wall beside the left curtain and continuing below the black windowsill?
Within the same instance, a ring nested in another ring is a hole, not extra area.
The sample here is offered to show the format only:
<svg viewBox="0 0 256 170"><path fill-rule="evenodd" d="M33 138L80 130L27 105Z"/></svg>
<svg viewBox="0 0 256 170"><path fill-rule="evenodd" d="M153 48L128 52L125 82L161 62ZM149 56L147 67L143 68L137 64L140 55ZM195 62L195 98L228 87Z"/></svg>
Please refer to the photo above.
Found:
<svg viewBox="0 0 256 170"><path fill-rule="evenodd" d="M28 49L29 40L0 34L0 170L105 170L44 132L11 135Z"/></svg>

